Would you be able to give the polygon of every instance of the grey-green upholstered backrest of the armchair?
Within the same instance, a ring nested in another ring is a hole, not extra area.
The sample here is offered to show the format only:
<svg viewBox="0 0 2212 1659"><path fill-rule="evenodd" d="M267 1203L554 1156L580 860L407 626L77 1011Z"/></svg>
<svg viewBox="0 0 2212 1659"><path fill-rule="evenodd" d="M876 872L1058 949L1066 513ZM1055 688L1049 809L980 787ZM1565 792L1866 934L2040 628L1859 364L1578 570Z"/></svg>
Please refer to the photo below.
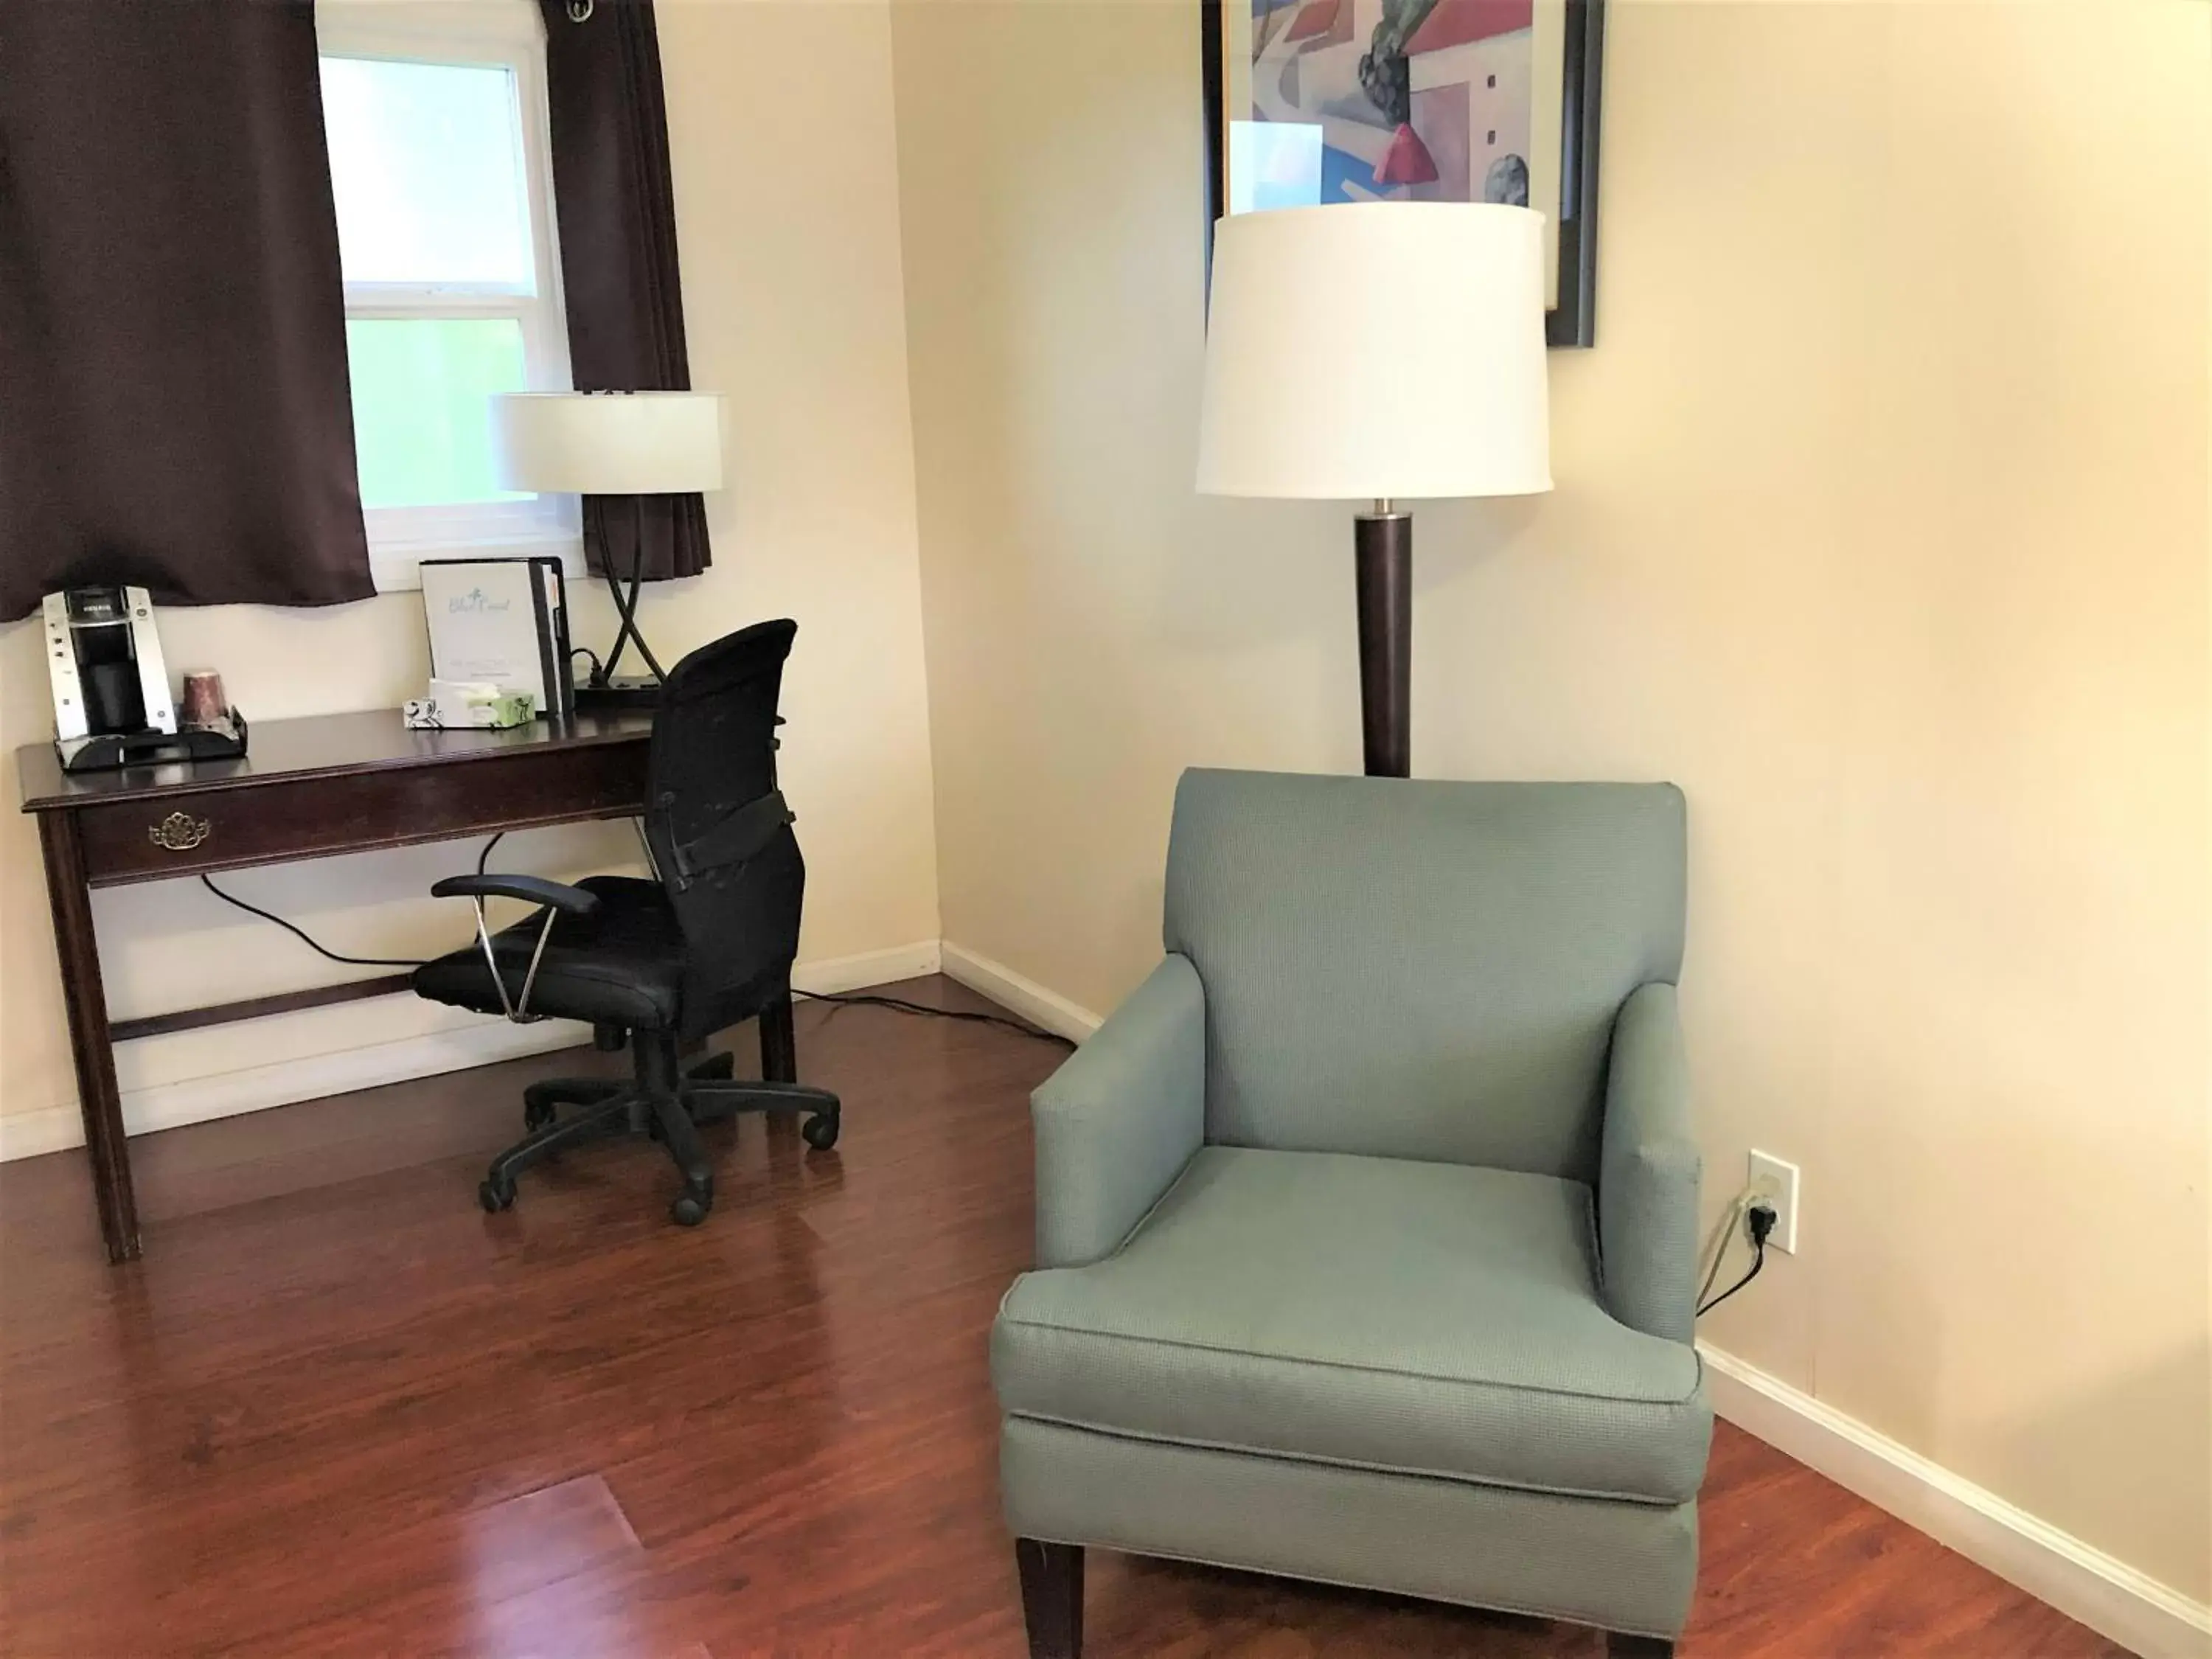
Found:
<svg viewBox="0 0 2212 1659"><path fill-rule="evenodd" d="M1183 774L1206 1135L1595 1181L1613 1015L1681 971L1670 783Z"/></svg>

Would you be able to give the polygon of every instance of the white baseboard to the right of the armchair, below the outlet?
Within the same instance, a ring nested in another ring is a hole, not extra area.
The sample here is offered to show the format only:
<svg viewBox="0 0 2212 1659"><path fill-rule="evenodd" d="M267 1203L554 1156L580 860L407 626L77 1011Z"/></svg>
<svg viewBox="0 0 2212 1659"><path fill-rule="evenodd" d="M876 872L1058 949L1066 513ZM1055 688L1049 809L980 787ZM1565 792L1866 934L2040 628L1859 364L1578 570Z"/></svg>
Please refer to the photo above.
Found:
<svg viewBox="0 0 2212 1659"><path fill-rule="evenodd" d="M2143 1659L2208 1659L2212 1608L1699 1343L1712 1409Z"/></svg>

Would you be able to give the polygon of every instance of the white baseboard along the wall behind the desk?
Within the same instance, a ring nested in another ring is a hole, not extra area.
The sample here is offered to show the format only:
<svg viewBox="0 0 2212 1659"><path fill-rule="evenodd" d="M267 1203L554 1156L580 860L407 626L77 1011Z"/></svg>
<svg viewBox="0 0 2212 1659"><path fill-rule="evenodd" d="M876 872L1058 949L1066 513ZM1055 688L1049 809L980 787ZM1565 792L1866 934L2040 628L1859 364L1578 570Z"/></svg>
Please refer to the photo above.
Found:
<svg viewBox="0 0 2212 1659"><path fill-rule="evenodd" d="M865 984L914 980L936 971L938 942L920 940L916 945L896 945L887 951L799 962L792 969L792 984L799 991L834 993L856 991ZM288 1015L272 1018L283 1020ZM442 1071L489 1066L495 1060L538 1055L549 1048L573 1048L582 1042L591 1042L591 1026L573 1020L544 1020L542 1024L526 1026L509 1024L507 1020L480 1020L447 1031L429 1031L392 1042L367 1042L356 1048L336 1048L268 1066L246 1066L208 1077L184 1077L146 1088L126 1088L122 1097L124 1128L131 1135L153 1135L164 1128L259 1113L301 1099L349 1095L356 1088L378 1088L380 1084L398 1084L409 1077L434 1077ZM75 1104L0 1115L0 1164L18 1157L40 1157L42 1152L66 1152L71 1146L84 1146L84 1119Z"/></svg>

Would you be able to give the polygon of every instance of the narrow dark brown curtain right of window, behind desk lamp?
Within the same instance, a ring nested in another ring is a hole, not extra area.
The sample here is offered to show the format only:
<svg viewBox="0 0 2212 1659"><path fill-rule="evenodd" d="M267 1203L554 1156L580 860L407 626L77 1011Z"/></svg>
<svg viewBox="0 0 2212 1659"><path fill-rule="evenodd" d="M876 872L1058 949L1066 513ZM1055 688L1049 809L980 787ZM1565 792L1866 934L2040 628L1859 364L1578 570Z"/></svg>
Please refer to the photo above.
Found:
<svg viewBox="0 0 2212 1659"><path fill-rule="evenodd" d="M553 212L577 392L690 392L668 177L661 40L650 0L538 0L546 20ZM580 7L582 9L582 7ZM586 495L591 568L628 575L644 500L646 580L708 566L699 495Z"/></svg>

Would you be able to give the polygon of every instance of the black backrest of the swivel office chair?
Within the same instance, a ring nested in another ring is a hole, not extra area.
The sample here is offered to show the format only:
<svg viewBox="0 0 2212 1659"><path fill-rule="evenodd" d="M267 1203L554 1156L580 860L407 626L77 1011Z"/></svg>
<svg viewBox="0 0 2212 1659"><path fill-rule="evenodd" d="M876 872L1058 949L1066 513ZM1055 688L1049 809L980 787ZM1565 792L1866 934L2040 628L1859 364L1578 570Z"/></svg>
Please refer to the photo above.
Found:
<svg viewBox="0 0 2212 1659"><path fill-rule="evenodd" d="M679 661L653 719L646 841L684 927L684 1024L717 1031L790 989L805 860L776 790L776 697L796 622Z"/></svg>

